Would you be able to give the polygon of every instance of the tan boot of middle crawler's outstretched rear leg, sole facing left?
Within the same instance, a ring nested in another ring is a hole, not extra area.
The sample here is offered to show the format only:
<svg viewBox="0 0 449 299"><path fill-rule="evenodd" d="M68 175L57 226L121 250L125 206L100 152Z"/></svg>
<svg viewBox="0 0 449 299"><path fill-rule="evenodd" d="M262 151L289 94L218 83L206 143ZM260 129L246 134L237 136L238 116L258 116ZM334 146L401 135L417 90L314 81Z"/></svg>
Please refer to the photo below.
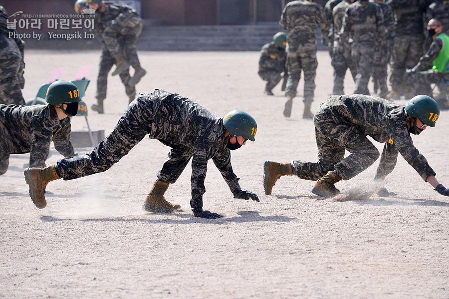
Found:
<svg viewBox="0 0 449 299"><path fill-rule="evenodd" d="M29 186L29 196L34 205L39 209L45 208L45 187L48 182L58 180L61 177L56 172L54 165L45 168L27 168L25 169L25 181Z"/></svg>

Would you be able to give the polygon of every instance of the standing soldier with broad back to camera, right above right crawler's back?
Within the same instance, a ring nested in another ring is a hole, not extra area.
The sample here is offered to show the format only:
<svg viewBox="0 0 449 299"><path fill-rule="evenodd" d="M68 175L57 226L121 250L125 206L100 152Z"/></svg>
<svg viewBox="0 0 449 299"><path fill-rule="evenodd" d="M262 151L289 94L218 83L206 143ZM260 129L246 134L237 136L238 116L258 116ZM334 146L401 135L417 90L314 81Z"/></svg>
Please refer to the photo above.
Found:
<svg viewBox="0 0 449 299"><path fill-rule="evenodd" d="M351 43L352 61L357 75L354 93L369 95L368 82L373 73L376 45L385 39L387 29L380 7L368 0L352 0L346 9L340 30Z"/></svg>

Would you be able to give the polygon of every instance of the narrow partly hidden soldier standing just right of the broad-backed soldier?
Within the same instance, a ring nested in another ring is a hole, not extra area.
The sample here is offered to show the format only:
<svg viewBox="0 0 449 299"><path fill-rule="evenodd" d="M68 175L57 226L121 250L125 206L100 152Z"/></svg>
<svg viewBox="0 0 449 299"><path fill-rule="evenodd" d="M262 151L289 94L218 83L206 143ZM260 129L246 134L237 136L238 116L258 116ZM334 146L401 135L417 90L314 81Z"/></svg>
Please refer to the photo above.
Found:
<svg viewBox="0 0 449 299"><path fill-rule="evenodd" d="M381 98L388 99L387 69L395 36L393 9L384 0L370 0L370 2L376 3L381 8L385 27L388 31L387 38L379 39L379 44L376 46L373 65L374 93L377 93Z"/></svg>

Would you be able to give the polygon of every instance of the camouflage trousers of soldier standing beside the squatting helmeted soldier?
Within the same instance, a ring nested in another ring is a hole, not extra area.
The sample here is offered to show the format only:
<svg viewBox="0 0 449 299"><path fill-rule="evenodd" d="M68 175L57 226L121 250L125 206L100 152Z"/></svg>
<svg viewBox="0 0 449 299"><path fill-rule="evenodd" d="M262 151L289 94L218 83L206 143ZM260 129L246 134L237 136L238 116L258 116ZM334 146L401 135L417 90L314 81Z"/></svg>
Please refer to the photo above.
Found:
<svg viewBox="0 0 449 299"><path fill-rule="evenodd" d="M315 75L318 60L315 52L288 52L287 69L288 81L285 93L296 95L299 79L301 79L301 70L304 72L304 103L313 102L315 93Z"/></svg>

